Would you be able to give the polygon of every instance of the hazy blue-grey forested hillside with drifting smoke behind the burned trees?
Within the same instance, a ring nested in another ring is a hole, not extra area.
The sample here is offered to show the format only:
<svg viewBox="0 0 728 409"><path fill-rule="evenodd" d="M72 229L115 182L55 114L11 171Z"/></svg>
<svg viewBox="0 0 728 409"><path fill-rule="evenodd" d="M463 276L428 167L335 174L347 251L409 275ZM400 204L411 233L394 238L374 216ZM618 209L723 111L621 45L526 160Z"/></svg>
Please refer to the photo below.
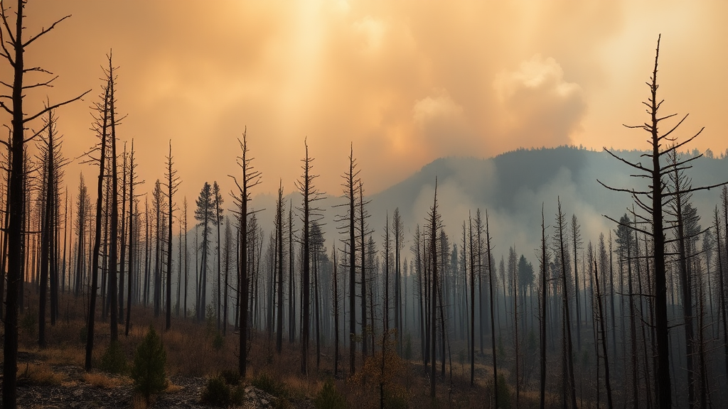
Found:
<svg viewBox="0 0 728 409"><path fill-rule="evenodd" d="M633 162L641 158L638 151L620 151L620 156ZM693 162L689 175L695 186L711 185L728 180L728 159L700 158ZM534 250L539 246L541 206L544 204L545 223L553 225L557 200L561 199L563 213L571 223L571 215L577 215L582 226L585 243L596 242L600 233L606 237L614 223L604 218L609 215L619 218L632 206L629 194L609 191L598 180L609 186L646 188L644 179L630 178L632 169L604 151L559 147L541 149L519 149L489 159L472 157L440 158L422 167L409 178L370 196L368 223L375 231L374 239L381 242L384 221L399 207L405 223L405 250L411 243L411 234L417 224L423 225L432 205L435 177L438 178L438 202L446 232L451 242L462 241L462 223L472 211L480 209L485 217L488 211L491 235L494 237L496 254L507 252L515 245L519 253L534 259ZM367 180L363 180L367 186ZM719 190L697 192L693 202L703 215L703 226L708 226L710 212L719 199ZM289 194L286 200L293 200L294 212L300 206L298 193ZM336 215L344 207L333 207L344 199L326 196L317 202L324 209L322 223L325 223L326 247L331 249L335 239ZM272 229L275 198L259 195L252 207L261 209L256 217L266 231ZM288 204L286 205L288 209ZM296 216L296 226L301 225ZM553 236L553 229L548 230ZM340 247L341 245L337 245ZM535 260L535 259L534 259Z"/></svg>

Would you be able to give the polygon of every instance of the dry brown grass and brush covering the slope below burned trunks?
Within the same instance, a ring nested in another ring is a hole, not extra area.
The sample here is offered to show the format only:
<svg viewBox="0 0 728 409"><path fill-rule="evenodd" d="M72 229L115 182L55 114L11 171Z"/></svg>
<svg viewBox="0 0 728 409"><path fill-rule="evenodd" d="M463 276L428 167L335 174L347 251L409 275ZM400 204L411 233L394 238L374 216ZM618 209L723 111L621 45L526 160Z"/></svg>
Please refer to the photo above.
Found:
<svg viewBox="0 0 728 409"><path fill-rule="evenodd" d="M28 287L30 287L28 285ZM32 296L26 298L26 305L33 306ZM48 326L48 346L39 349L36 344L36 332L29 324L30 317L37 317L35 311L25 309L21 317L20 346L21 350L31 353L42 361L41 363L27 364L25 370L29 381L36 383L63 384L63 375L54 371L53 366L75 365L82 367L84 363L83 330L84 298L74 299L71 295L62 298L63 316L55 326ZM37 325L37 323L34 323ZM172 329L164 331L164 317L160 315L155 319L151 309L141 306L132 308L132 326L129 336L119 336L124 349L127 362L132 362L134 351L141 343L143 335L149 325L159 330L159 335L167 351L168 376L207 376L220 374L223 370L237 370L237 337L230 327L228 335L223 342L215 347L216 330L213 325L206 322L195 322L192 318L173 318ZM100 357L108 348L108 321L98 321L98 332L95 338L94 362L98 368ZM120 327L123 334L123 327ZM309 358L312 365L309 374L304 376L298 368L300 362L300 346L298 344L283 344L282 353L275 352L274 337L269 338L266 333L253 331L250 342L250 367L248 378L245 381L256 384L262 378L273 379L273 391L265 391L280 397L279 405L296 406L296 402L310 402L321 390L326 379L333 378L333 347L322 348L320 368L316 369L315 356ZM390 349L393 346L390 346ZM344 354L342 352L342 354ZM313 354L312 354L313 355ZM395 408L490 408L492 381L488 382L492 374L491 368L486 364L490 358L480 357L478 362L478 379L475 387L470 387L470 374L461 364L453 362L450 370L448 365L446 376L438 377L438 397L432 400L427 394L429 378L424 374L422 362L419 360L406 361L396 354L387 354L384 376L385 397L387 406ZM21 364L23 365L23 364ZM438 374L440 373L438 362ZM381 380L381 345L377 346L376 353L363 360L357 356L357 373L347 378L344 365L339 368L339 378L333 379L337 392L344 395L349 408L379 408ZM507 375L507 370L503 371ZM130 379L124 376L112 376L98 370L85 373L82 381L100 388L130 384ZM69 384L70 385L70 384ZM178 387L170 384L165 393L175 393ZM285 403L283 403L285 401ZM538 397L535 392L521 394L521 408L536 408ZM143 408L143 400L132 400L133 408Z"/></svg>

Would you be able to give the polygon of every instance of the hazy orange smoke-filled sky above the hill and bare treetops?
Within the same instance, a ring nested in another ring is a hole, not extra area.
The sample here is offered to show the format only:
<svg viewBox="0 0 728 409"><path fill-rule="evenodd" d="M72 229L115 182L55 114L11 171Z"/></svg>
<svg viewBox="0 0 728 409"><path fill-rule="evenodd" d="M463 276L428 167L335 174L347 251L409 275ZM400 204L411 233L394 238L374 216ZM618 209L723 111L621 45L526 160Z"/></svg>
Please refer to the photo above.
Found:
<svg viewBox="0 0 728 409"><path fill-rule="evenodd" d="M26 54L60 75L51 100L92 89L58 112L66 156L94 142L89 106L113 49L128 115L118 135L135 138L143 190L162 178L172 139L191 204L205 180L232 187L245 126L261 193L279 178L293 189L305 137L335 195L349 143L368 193L439 156L643 148L645 135L622 124L646 119L658 33L665 114L691 114L684 135L705 126L692 147L728 148L727 1L29 3L30 31L72 15ZM95 172L71 165L71 186L81 170Z"/></svg>

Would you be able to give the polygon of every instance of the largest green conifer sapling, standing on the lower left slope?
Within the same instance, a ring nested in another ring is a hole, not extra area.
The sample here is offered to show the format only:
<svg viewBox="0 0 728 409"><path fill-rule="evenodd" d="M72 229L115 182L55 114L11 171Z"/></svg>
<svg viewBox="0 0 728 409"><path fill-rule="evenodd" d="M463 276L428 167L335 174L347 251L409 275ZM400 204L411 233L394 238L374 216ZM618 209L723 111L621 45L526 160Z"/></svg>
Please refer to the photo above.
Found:
<svg viewBox="0 0 728 409"><path fill-rule="evenodd" d="M131 371L136 389L143 394L148 403L151 394L162 392L167 388L165 362L167 353L162 340L154 331L154 327L149 325L149 332L137 348Z"/></svg>

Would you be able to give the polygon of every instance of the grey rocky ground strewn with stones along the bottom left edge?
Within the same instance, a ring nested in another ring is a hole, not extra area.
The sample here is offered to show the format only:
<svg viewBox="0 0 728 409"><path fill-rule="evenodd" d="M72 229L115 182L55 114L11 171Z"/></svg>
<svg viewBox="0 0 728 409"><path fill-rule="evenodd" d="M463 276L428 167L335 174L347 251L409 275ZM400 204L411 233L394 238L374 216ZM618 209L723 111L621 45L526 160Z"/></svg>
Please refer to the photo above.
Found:
<svg viewBox="0 0 728 409"><path fill-rule="evenodd" d="M33 354L18 357L17 405L25 409L98 409L145 408L135 394L131 381L125 377L97 373L89 376L75 365L44 365ZM41 366L39 366L41 365ZM37 368L44 368L39 376ZM36 374L33 375L33 370ZM153 397L149 408L210 408L200 403L205 378L172 376L166 392ZM279 405L277 398L253 386L245 386L245 402L240 408L263 409ZM283 405L309 408L310 402Z"/></svg>

